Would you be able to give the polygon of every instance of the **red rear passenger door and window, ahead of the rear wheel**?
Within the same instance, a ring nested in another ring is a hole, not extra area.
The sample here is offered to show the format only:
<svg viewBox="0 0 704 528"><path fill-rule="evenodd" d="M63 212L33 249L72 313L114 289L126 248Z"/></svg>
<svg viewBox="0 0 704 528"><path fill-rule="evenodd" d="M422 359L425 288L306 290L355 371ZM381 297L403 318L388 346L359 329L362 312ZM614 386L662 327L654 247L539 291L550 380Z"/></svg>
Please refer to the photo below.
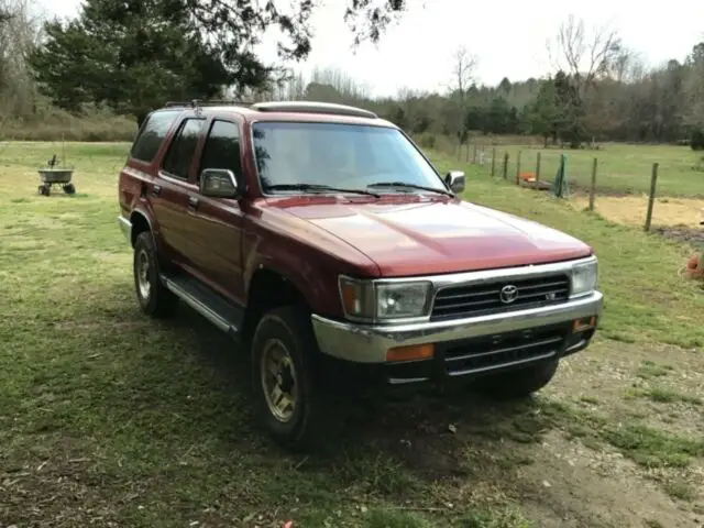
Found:
<svg viewBox="0 0 704 528"><path fill-rule="evenodd" d="M195 153L202 140L206 119L185 118L164 155L156 188L152 190L152 207L157 218L162 241L170 250L174 261L191 267L194 253L193 219L188 215L188 199L197 193L195 184Z"/></svg>

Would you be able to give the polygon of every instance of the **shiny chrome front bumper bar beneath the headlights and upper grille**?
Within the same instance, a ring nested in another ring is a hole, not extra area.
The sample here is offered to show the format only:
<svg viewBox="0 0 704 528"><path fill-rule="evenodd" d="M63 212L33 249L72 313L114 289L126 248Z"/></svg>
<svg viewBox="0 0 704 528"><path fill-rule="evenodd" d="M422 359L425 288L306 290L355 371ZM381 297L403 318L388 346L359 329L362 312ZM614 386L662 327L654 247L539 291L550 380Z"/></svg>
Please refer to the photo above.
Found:
<svg viewBox="0 0 704 528"><path fill-rule="evenodd" d="M463 340L601 316L603 300L603 295L594 292L560 305L448 321L372 326L312 315L311 322L324 354L356 363L384 363L393 346Z"/></svg>

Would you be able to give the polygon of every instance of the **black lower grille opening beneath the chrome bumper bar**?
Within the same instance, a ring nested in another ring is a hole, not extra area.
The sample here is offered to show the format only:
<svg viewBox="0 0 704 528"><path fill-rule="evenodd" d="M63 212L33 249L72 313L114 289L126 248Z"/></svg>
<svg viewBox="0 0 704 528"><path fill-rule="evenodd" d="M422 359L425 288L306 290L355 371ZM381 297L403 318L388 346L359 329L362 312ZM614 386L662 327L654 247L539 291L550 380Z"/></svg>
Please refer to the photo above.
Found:
<svg viewBox="0 0 704 528"><path fill-rule="evenodd" d="M446 370L457 376L552 358L568 334L560 324L468 340L444 351Z"/></svg>

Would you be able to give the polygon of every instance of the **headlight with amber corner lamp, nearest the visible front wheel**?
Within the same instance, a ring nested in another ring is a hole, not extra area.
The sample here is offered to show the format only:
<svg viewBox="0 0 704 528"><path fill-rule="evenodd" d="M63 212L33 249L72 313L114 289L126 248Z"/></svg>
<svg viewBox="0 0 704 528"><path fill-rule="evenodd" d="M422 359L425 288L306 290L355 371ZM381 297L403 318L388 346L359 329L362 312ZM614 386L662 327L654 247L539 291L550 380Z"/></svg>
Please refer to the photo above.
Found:
<svg viewBox="0 0 704 528"><path fill-rule="evenodd" d="M405 319L428 315L431 284L427 280L383 283L340 276L344 315L352 319Z"/></svg>

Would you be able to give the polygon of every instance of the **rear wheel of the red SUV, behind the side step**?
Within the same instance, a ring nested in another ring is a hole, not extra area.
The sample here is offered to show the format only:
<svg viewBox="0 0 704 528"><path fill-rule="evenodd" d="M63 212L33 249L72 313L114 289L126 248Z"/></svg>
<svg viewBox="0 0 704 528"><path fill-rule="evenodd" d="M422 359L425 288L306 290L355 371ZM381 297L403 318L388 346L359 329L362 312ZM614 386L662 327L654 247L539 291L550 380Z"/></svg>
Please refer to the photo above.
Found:
<svg viewBox="0 0 704 528"><path fill-rule="evenodd" d="M158 255L151 231L143 231L136 237L132 272L134 289L142 311L153 318L173 315L178 298L160 279Z"/></svg>

